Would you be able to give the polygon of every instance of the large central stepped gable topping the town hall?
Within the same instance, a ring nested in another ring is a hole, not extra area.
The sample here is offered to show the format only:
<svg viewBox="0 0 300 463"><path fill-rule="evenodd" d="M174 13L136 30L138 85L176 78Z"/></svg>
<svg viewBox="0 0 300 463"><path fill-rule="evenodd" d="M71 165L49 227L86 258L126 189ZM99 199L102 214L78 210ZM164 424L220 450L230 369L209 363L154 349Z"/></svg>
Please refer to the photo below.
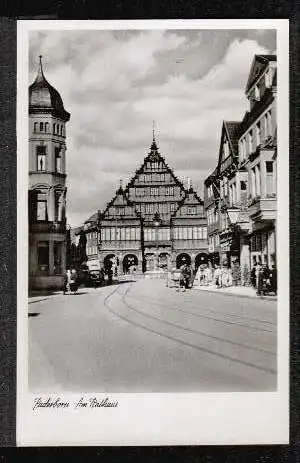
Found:
<svg viewBox="0 0 300 463"><path fill-rule="evenodd" d="M170 224L172 214L186 193L183 184L159 153L154 138L150 152L125 191L146 223L151 223L155 212L159 212L165 225Z"/></svg>

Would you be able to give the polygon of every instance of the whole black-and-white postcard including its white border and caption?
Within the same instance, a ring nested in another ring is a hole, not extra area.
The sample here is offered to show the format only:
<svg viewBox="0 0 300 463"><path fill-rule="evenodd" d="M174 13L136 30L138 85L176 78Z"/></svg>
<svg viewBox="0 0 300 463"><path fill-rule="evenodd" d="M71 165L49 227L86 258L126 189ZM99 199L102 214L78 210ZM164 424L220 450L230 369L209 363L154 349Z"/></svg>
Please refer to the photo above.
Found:
<svg viewBox="0 0 300 463"><path fill-rule="evenodd" d="M24 446L288 442L288 21L19 21Z"/></svg>

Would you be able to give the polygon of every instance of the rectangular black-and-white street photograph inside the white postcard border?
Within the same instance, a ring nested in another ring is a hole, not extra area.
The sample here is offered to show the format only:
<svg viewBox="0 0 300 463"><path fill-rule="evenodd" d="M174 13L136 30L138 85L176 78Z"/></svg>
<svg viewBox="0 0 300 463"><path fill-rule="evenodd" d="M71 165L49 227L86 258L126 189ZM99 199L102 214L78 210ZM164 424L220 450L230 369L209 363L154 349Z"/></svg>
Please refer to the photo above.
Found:
<svg viewBox="0 0 300 463"><path fill-rule="evenodd" d="M29 391L276 391L276 30L28 40Z"/></svg>

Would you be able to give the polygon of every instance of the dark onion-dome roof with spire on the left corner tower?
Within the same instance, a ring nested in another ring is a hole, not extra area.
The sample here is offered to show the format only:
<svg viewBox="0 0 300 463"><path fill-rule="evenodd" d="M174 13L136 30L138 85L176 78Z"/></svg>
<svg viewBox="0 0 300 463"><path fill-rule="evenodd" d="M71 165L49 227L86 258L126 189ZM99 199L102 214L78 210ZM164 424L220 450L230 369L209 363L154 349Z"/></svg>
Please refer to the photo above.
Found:
<svg viewBox="0 0 300 463"><path fill-rule="evenodd" d="M29 87L29 112L53 112L64 121L70 119L60 94L44 76L41 56L37 76Z"/></svg>

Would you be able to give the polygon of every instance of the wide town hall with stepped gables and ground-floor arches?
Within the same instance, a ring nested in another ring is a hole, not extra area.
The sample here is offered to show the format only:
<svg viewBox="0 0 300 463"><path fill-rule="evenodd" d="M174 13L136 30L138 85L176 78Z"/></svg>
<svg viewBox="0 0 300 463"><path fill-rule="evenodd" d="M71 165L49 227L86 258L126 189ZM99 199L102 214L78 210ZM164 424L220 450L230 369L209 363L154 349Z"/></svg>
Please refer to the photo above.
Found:
<svg viewBox="0 0 300 463"><path fill-rule="evenodd" d="M89 222L87 242L95 243L95 223ZM183 263L197 268L208 260L204 203L191 185L185 188L175 176L154 138L134 177L126 187L120 185L98 214L97 229L100 266L113 262L121 273L132 267L161 271ZM93 244L90 261L95 250Z"/></svg>

